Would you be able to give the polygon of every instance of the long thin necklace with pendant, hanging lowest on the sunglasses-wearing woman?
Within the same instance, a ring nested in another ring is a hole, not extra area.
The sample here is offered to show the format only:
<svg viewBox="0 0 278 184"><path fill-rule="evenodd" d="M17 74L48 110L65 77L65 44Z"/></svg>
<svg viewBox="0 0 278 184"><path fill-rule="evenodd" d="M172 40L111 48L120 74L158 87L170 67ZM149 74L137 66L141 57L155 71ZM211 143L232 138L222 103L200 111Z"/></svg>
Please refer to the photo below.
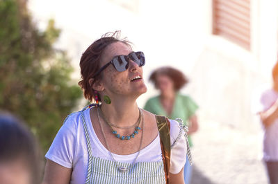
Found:
<svg viewBox="0 0 278 184"><path fill-rule="evenodd" d="M120 172L126 172L126 171L128 171L129 169L133 168L133 166L135 165L135 162L136 162L136 160L137 160L137 158L138 158L138 156L139 156L139 154L140 154L140 151L141 151L142 140L143 140L143 136L144 136L144 131L143 131L143 129L144 129L144 116L142 116L142 136L141 136L141 139L140 139L140 145L139 145L139 148L138 148L136 157L134 158L134 160L133 160L133 162L132 162L132 164L131 164L130 167L124 167L124 166L118 165L117 161L115 160L115 158L113 157L113 155L112 155L112 153L111 153L111 151L110 151L110 148L109 148L109 146L108 146L108 144L107 144L107 141L106 141L106 136L105 136L105 134L104 134L104 128L102 127L102 124L101 124L101 121L100 121L100 118L99 118L99 111L101 111L101 110L99 110L99 109L100 109L100 108L97 108L97 118L99 119L99 125L100 125L100 129L101 129L101 134L102 134L102 136L104 136L104 142L105 142L105 145L106 145L106 147L107 147L108 153L109 153L109 155L111 156L112 160L113 160L113 161L115 162L115 164L117 165L117 169L119 169ZM140 109L139 109L139 111L140 111L140 113L142 113Z"/></svg>

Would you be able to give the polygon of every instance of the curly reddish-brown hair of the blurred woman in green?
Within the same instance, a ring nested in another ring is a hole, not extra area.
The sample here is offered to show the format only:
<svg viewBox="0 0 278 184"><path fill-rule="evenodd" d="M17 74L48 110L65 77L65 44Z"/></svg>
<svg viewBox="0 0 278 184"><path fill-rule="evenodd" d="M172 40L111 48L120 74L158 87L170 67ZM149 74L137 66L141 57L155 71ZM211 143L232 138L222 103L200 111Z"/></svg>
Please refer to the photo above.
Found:
<svg viewBox="0 0 278 184"><path fill-rule="evenodd" d="M163 66L161 68L157 68L152 72L149 80L154 83L156 86L156 79L158 75L166 75L170 77L170 79L174 82L174 89L179 91L183 86L188 83L188 79L183 73L176 68L172 68L171 66ZM156 86L157 88L157 86Z"/></svg>

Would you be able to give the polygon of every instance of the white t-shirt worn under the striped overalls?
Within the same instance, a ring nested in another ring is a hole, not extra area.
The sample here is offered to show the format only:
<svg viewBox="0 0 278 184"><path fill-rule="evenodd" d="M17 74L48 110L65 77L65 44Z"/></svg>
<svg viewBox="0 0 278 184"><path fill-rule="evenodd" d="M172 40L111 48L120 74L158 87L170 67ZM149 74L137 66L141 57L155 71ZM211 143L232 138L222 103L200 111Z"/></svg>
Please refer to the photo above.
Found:
<svg viewBox="0 0 278 184"><path fill-rule="evenodd" d="M113 160L108 150L101 144L90 119L90 109L84 111L85 123L90 134L92 156ZM147 122L145 122L147 123ZM179 136L181 131L182 136ZM171 149L170 172L177 174L186 163L186 138L184 131L175 120L170 120L170 142L174 142ZM177 140L175 142L175 140ZM122 163L132 163L137 153L129 155L113 154L115 160ZM85 140L81 113L74 113L67 118L65 124L60 128L56 138L52 142L45 157L49 160L72 168L71 183L85 183L88 167L88 149ZM147 147L140 151L136 163L139 162L158 162L162 160L161 145L159 135Z"/></svg>

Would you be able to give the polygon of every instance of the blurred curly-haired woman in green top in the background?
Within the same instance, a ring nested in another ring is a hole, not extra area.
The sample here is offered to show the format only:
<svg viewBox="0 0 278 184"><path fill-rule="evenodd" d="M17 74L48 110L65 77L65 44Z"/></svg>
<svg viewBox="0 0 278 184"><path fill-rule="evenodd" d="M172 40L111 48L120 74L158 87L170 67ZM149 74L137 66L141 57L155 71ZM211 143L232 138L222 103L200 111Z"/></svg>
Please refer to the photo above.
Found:
<svg viewBox="0 0 278 184"><path fill-rule="evenodd" d="M170 66L157 68L149 80L154 83L160 94L147 100L144 109L154 114L167 116L170 119L181 118L188 126L188 134L193 134L198 129L197 104L188 95L182 95L179 90L188 83L183 73ZM192 140L188 137L189 145ZM191 167L186 161L184 166L184 181L190 183Z"/></svg>

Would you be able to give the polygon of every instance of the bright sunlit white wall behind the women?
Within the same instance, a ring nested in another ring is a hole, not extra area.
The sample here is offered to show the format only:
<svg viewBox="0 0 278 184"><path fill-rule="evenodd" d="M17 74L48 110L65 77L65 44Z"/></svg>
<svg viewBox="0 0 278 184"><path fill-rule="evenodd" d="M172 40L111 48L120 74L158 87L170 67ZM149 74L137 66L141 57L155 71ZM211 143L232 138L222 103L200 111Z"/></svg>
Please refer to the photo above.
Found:
<svg viewBox="0 0 278 184"><path fill-rule="evenodd" d="M251 50L212 35L212 1L39 1L29 8L41 28L54 18L63 30L57 47L66 48L79 80L79 59L95 39L122 30L145 52L145 81L149 91L138 99L142 107L156 95L147 78L163 65L181 69L190 78L182 90L200 106L202 119L253 129L252 94L271 84L271 67L277 59L277 2L251 1ZM257 126L254 130L258 129Z"/></svg>

